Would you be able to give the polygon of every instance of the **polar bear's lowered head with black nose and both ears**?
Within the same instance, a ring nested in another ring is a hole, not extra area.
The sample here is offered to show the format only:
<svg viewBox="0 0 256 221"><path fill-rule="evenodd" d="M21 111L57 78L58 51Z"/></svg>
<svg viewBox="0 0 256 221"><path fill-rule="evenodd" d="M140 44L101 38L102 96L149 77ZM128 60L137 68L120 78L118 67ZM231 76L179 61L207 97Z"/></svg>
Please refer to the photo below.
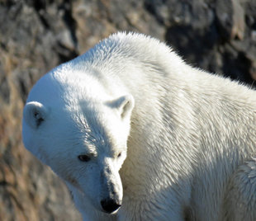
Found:
<svg viewBox="0 0 256 221"><path fill-rule="evenodd" d="M32 88L23 111L23 143L92 206L114 213L121 206L119 170L134 99L112 97L84 73L62 72L46 74Z"/></svg>

